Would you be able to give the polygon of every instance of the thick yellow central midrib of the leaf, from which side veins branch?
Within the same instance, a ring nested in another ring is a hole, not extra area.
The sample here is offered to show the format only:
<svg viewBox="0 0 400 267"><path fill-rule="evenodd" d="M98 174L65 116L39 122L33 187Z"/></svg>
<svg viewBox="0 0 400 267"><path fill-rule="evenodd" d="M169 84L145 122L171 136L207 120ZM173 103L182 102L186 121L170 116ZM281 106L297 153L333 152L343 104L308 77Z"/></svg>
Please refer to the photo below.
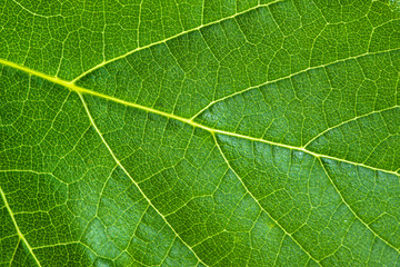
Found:
<svg viewBox="0 0 400 267"><path fill-rule="evenodd" d="M312 155L312 156L316 157L316 158L332 159L332 160L336 160L336 161L341 161L341 162L346 162L346 164L351 164L351 165L356 165L356 166L361 166L361 167L369 168L369 169L372 169L372 170L382 171L382 172L388 172L388 174L391 174L391 175L399 176L399 174L396 172L396 171L386 170L386 169L380 169L380 168L376 168L376 167L372 167L372 166L369 166L369 165L363 165L363 164L359 164L359 162L354 162L354 161L350 161L350 160L346 160L346 159L332 157L332 156L329 156L329 155L317 154L317 152L313 152L313 151L310 151L310 150L306 149L304 147L296 147L296 146L290 146L290 145L280 144L280 142L269 141L269 140L261 139L261 138L254 138L254 137L250 137L250 136L246 136L246 135L240 135L240 134L236 134L236 132L230 132L230 131L224 131L224 130L220 130L220 129L214 129L214 128L211 128L211 127L208 127L208 126L203 126L203 125L201 125L201 123L198 123L198 122L196 122L196 121L193 121L193 120L190 120L190 119L187 119L187 118L183 118L183 117L179 117L179 116L176 116L176 115L172 115L172 113L168 113L168 112L164 112L164 111L161 111L161 110L157 110L157 109L153 109L153 108L149 108L149 107L146 107L146 106L141 106L141 105L138 105L138 103L129 102L129 101L126 101L126 100L122 100L122 99L119 99L119 98L116 98L116 97L111 97L111 96L108 96L108 95L104 95L104 93L101 93L101 92L92 91L92 90L90 90L90 89L87 89L87 88L83 88L83 87L79 87L79 86L77 86L74 82L66 81L66 80L63 80L63 79L60 79L60 78L57 78L57 77L52 77L52 76L42 73L42 72L40 72L40 71L36 71L36 70L29 69L29 68L27 68L27 67L17 65L17 63L14 63L14 62L10 62L10 61L8 61L8 60L0 59L0 63L1 63L1 65L4 65L4 66L8 66L8 67L11 67L11 68L14 68L14 69L18 69L18 70L21 70L21 71L27 72L27 73L29 73L29 75L40 77L40 78L46 79L46 80L48 80L48 81L54 82L54 83L57 83L57 85L60 85L60 86L62 86L62 87L66 87L66 88L72 90L72 91L74 91L74 92L80 92L80 93L87 93L87 95L96 96L96 97L103 98L103 99L107 99L107 100L110 100L110 101L113 101L113 102L118 102L118 103L121 103L121 105L124 105L124 106L129 106L129 107L133 107L133 108L137 108L137 109L141 109L141 110L144 110L144 111L147 111L147 112L160 115L160 116L163 116L163 117L167 117L167 118L170 118L170 119L174 119L174 120L178 120L178 121L182 121L182 122L188 123L188 125L190 125L190 126L192 126L192 127L197 127L197 128L204 129L204 130L207 130L207 131L209 131L209 132L212 132L212 134L221 134L221 135L233 136L233 137L238 137L238 138L242 138L242 139L247 139L247 140L251 140L251 141L264 142L264 144L269 144L269 145L272 145L272 146L278 146L278 147L288 148L288 149L291 149L291 150L302 151L302 152Z"/></svg>

